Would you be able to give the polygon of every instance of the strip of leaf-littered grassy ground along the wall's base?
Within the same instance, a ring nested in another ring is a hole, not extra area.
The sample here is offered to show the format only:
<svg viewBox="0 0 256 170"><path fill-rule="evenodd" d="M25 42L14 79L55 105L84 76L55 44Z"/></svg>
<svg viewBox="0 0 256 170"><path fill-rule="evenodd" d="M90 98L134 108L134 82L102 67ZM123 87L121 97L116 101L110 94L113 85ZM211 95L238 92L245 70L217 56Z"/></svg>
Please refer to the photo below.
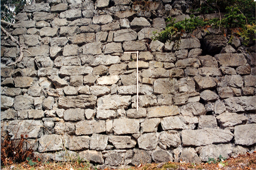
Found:
<svg viewBox="0 0 256 170"><path fill-rule="evenodd" d="M91 168L89 163L42 163L34 161L34 165L29 165L29 161L24 163L9 165L1 167L2 170L98 170ZM224 166L223 166L224 165ZM122 168L122 170L255 170L256 169L256 151L247 153L245 155L238 155L236 157L224 160L222 164L193 164L193 163L152 163L146 165L139 165L138 167ZM114 169L104 169L114 170Z"/></svg>

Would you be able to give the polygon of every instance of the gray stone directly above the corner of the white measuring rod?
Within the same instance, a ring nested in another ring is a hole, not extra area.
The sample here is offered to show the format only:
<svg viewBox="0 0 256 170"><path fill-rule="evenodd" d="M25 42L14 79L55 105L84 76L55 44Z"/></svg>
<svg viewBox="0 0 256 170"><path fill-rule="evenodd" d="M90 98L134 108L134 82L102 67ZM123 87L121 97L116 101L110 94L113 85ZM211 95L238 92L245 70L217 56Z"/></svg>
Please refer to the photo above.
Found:
<svg viewBox="0 0 256 170"><path fill-rule="evenodd" d="M125 51L146 51L147 47L144 41L125 41L123 43Z"/></svg>

